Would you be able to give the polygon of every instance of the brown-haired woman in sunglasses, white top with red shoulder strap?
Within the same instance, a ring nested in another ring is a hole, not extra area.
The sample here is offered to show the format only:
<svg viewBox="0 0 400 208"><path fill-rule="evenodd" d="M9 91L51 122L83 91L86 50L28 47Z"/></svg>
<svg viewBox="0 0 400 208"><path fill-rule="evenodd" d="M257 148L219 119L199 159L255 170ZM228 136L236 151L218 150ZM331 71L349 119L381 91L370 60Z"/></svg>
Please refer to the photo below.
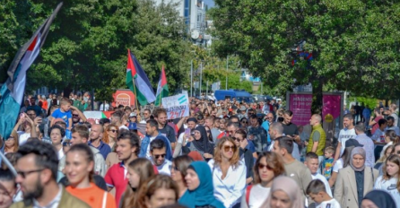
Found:
<svg viewBox="0 0 400 208"><path fill-rule="evenodd" d="M241 197L241 208L262 207L269 195L274 178L284 176L282 158L275 152L263 152L254 166L254 183L247 186Z"/></svg>

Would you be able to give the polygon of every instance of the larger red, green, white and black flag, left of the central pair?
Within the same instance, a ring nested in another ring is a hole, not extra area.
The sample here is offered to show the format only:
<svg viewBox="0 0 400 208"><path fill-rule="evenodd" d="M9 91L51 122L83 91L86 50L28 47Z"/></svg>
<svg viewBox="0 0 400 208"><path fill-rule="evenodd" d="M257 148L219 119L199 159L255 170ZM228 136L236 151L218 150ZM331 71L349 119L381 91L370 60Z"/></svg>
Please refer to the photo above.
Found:
<svg viewBox="0 0 400 208"><path fill-rule="evenodd" d="M149 78L129 49L127 50L126 85L135 93L136 100L142 106L155 100Z"/></svg>

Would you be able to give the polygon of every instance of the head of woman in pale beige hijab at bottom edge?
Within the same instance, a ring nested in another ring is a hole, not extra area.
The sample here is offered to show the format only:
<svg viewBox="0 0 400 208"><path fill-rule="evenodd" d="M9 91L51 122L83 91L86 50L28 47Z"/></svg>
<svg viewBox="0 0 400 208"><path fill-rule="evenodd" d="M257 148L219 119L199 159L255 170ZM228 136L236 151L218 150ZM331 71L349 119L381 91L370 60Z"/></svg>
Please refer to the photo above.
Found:
<svg viewBox="0 0 400 208"><path fill-rule="evenodd" d="M262 207L304 208L303 195L299 185L289 177L275 178L268 198Z"/></svg>

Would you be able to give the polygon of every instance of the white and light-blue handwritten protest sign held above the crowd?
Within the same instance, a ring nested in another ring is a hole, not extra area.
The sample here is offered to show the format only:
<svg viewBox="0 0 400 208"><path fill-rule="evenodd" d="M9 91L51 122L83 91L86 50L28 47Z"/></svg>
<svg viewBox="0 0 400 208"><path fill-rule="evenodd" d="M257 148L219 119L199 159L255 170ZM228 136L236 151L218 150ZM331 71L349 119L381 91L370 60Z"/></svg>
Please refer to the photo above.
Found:
<svg viewBox="0 0 400 208"><path fill-rule="evenodd" d="M189 99L187 93L162 98L162 107L167 110L168 119L189 116Z"/></svg>

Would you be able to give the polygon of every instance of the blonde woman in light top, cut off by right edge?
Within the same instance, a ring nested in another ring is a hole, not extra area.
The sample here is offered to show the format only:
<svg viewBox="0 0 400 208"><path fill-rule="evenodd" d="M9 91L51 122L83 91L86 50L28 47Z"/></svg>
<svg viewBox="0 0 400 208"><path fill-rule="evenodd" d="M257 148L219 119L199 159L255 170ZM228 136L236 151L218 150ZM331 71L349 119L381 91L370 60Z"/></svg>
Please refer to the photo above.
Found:
<svg viewBox="0 0 400 208"><path fill-rule="evenodd" d="M387 191L400 204L400 157L390 155L383 165L383 175L375 182L374 189Z"/></svg>

